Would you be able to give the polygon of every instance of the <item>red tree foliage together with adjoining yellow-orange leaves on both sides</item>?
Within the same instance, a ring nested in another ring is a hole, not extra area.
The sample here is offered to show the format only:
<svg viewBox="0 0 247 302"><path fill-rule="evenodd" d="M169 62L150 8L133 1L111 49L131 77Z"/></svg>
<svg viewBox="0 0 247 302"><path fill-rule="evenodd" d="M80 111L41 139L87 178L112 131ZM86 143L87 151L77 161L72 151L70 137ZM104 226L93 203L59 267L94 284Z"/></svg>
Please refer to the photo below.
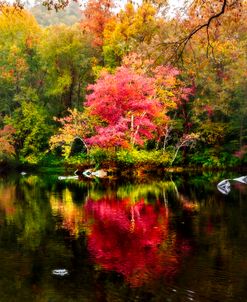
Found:
<svg viewBox="0 0 247 302"><path fill-rule="evenodd" d="M86 111L70 111L70 116L58 120L64 127L51 143L68 145L79 136L88 146L130 148L157 139L169 121L168 112L194 93L181 86L178 75L171 66L158 66L147 75L127 63L114 74L103 71L87 88Z"/></svg>

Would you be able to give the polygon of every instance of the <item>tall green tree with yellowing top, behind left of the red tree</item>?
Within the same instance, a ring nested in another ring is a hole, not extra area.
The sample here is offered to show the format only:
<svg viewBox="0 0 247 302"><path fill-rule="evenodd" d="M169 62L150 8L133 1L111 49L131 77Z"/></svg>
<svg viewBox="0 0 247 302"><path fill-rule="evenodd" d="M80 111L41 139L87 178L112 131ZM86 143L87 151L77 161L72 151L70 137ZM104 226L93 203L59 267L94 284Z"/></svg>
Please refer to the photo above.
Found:
<svg viewBox="0 0 247 302"><path fill-rule="evenodd" d="M90 37L79 26L51 26L39 44L42 63L42 97L47 110L61 116L79 107L85 87L92 81L94 51Z"/></svg>

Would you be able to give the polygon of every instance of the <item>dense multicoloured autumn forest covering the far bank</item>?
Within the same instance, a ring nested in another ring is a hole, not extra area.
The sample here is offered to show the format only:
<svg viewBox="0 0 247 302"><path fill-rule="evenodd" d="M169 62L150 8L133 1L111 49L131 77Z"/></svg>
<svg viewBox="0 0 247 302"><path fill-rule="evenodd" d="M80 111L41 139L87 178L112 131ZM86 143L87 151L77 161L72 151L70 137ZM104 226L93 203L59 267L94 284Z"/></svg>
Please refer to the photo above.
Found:
<svg viewBox="0 0 247 302"><path fill-rule="evenodd" d="M1 162L246 164L246 1L114 5L48 27L0 6Z"/></svg>

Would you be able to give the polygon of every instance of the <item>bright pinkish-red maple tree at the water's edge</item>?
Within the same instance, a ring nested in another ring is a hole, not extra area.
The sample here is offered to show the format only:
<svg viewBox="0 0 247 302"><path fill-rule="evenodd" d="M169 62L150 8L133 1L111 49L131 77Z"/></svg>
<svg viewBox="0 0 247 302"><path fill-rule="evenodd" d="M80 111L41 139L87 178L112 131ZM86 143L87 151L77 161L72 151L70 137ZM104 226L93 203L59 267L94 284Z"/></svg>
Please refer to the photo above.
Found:
<svg viewBox="0 0 247 302"><path fill-rule="evenodd" d="M120 67L115 74L104 72L88 90L86 106L102 121L88 144L127 147L153 137L154 118L160 112L154 78Z"/></svg>

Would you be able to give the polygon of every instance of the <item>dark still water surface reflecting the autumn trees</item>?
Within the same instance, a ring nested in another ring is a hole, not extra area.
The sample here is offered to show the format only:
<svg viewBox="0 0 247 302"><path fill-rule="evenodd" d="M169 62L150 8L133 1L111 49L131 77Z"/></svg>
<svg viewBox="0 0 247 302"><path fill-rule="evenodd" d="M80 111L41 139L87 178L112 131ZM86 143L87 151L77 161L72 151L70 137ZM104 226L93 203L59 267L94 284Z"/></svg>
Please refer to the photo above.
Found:
<svg viewBox="0 0 247 302"><path fill-rule="evenodd" d="M247 185L216 188L233 175L57 176L0 178L0 301L247 301Z"/></svg>

